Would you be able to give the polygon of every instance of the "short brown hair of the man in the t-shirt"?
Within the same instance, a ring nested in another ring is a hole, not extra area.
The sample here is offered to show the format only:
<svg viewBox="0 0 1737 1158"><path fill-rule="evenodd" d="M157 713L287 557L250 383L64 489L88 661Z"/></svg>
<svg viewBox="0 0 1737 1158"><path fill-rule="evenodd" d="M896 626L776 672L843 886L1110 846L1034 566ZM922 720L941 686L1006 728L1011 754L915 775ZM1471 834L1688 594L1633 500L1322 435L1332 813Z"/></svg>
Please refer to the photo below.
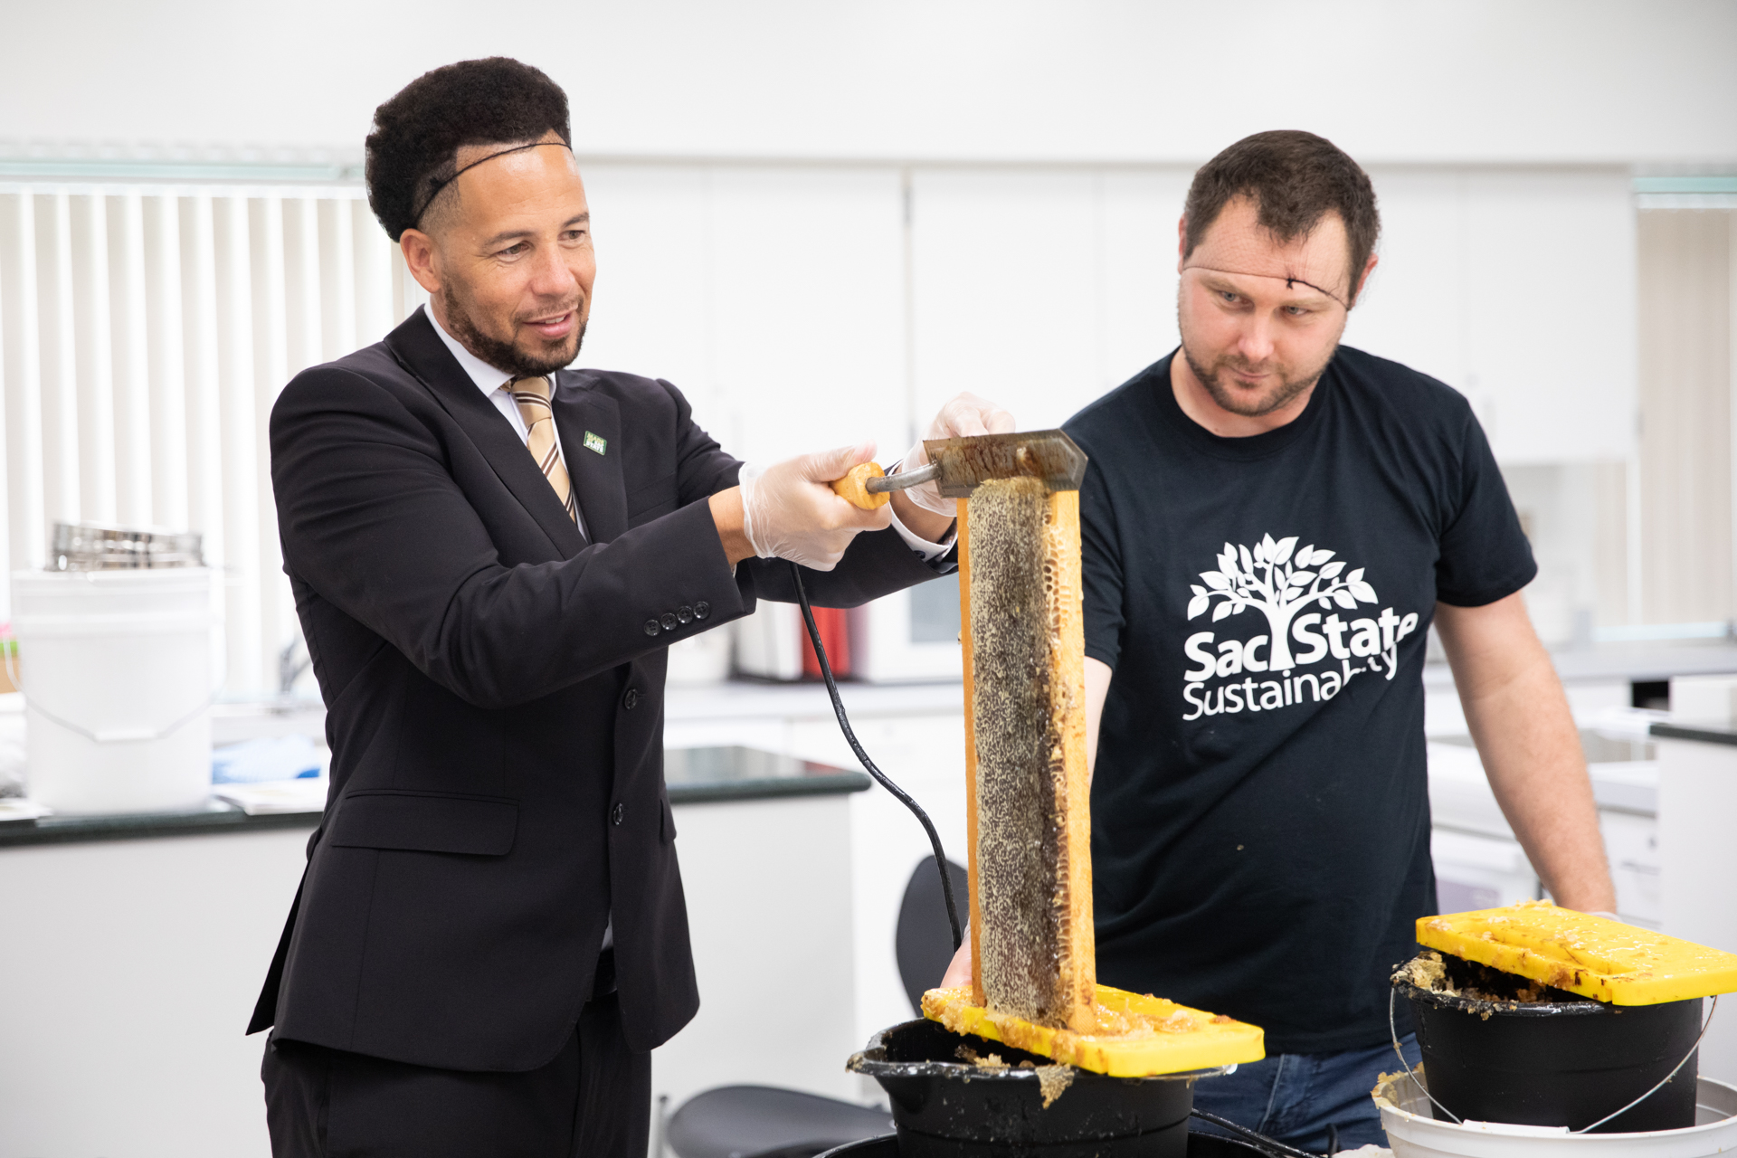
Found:
<svg viewBox="0 0 1737 1158"><path fill-rule="evenodd" d="M1277 128L1244 137L1202 165L1183 207L1188 222L1185 260L1237 196L1256 203L1261 227L1278 241L1308 236L1329 212L1339 214L1351 250L1346 300L1357 300L1357 278L1376 250L1381 214L1369 174L1339 146L1311 132Z"/></svg>

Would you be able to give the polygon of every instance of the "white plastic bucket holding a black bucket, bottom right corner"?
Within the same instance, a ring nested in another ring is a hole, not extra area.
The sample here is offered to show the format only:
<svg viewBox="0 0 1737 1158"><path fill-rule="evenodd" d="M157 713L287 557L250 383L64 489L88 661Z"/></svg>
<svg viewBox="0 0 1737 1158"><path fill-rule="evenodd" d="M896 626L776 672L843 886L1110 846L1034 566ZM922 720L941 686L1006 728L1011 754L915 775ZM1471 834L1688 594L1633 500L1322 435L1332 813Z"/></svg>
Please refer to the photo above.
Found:
<svg viewBox="0 0 1737 1158"><path fill-rule="evenodd" d="M1374 1097L1393 1158L1711 1158L1737 1148L1737 1087L1713 1078L1697 1078L1695 1125L1645 1134L1436 1122L1430 1099L1403 1073L1383 1080Z"/></svg>

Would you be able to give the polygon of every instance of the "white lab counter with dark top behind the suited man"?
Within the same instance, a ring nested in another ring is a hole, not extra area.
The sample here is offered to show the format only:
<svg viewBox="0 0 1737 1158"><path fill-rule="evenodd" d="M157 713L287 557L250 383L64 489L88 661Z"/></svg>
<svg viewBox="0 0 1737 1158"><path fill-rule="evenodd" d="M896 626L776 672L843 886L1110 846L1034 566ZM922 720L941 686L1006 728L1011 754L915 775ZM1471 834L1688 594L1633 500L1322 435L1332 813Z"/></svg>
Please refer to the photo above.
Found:
<svg viewBox="0 0 1737 1158"><path fill-rule="evenodd" d="M670 748L665 776L702 1007L655 1050L655 1089L853 1095L868 778L747 747ZM214 804L0 825L0 1155L269 1155L264 1036L243 1030L318 821Z"/></svg>

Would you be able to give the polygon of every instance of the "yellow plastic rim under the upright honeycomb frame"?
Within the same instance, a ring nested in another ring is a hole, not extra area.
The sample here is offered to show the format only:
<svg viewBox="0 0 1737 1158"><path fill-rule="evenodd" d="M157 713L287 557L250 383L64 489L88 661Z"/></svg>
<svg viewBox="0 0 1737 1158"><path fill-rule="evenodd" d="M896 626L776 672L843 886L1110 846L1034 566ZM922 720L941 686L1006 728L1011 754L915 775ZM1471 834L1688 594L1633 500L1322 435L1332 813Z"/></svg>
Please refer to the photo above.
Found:
<svg viewBox="0 0 1737 1158"><path fill-rule="evenodd" d="M1112 1078L1148 1078L1266 1057L1259 1026L1188 1009L1162 997L1100 984L1098 1007L1098 1023L1106 1031L1072 1033L973 1005L969 986L929 990L922 995L922 1016L954 1033L974 1033Z"/></svg>

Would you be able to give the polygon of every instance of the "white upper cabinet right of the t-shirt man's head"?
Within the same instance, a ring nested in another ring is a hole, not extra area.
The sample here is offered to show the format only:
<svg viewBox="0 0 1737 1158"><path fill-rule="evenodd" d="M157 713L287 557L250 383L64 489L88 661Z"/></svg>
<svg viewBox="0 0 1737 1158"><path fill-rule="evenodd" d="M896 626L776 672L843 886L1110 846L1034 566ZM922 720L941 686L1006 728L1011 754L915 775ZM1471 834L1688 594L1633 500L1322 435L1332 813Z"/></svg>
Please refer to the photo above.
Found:
<svg viewBox="0 0 1737 1158"><path fill-rule="evenodd" d="M1504 464L1635 450L1635 200L1605 168L1374 168L1381 264L1344 342L1466 394Z"/></svg>

